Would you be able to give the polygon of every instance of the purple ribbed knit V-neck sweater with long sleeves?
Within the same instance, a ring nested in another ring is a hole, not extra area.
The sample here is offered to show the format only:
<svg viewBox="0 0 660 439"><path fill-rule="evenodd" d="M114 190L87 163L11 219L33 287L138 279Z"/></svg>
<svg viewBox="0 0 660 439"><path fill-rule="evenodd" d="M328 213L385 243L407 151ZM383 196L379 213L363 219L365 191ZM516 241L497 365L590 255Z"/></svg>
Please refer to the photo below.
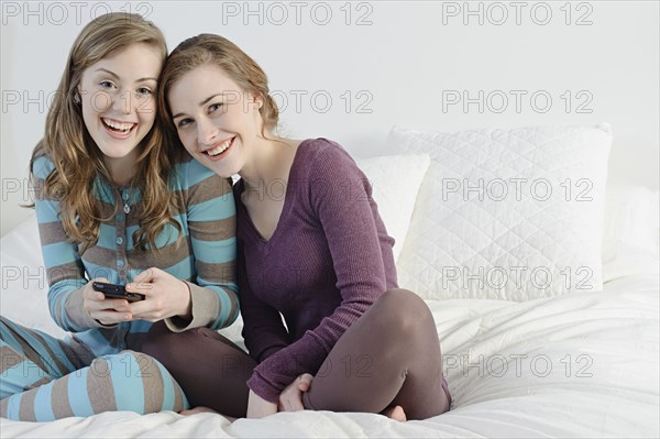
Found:
<svg viewBox="0 0 660 439"><path fill-rule="evenodd" d="M268 241L241 201L243 182L234 186L243 337L258 363L248 385L272 403L298 375L316 374L351 323L397 287L394 239L369 180L339 144L300 143L288 182L262 195L278 196L284 186L284 208Z"/></svg>

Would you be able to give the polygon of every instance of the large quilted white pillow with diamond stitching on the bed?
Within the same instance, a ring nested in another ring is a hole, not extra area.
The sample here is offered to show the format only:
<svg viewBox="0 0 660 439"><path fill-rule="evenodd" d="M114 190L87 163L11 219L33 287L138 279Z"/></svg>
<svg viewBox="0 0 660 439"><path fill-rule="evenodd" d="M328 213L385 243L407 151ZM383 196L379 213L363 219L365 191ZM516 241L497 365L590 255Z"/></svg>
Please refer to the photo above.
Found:
<svg viewBox="0 0 660 439"><path fill-rule="evenodd" d="M429 153L398 262L427 299L528 300L603 286L607 124L393 129L387 150Z"/></svg>

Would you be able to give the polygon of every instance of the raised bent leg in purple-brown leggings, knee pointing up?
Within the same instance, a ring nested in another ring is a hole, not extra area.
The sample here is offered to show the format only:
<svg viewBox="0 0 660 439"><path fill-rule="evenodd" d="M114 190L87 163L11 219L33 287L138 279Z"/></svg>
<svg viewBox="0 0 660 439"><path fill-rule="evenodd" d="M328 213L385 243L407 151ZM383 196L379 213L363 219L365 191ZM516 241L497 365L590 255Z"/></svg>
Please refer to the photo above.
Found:
<svg viewBox="0 0 660 439"><path fill-rule="evenodd" d="M339 339L304 394L307 408L381 413L400 405L408 419L449 409L438 332L416 294L383 294Z"/></svg>

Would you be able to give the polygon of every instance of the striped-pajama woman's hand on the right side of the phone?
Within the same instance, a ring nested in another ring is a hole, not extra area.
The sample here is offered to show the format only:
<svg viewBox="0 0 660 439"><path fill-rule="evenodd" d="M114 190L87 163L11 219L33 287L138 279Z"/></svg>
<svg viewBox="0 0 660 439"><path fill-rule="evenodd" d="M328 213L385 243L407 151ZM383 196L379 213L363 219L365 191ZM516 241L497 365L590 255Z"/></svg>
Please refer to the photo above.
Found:
<svg viewBox="0 0 660 439"><path fill-rule="evenodd" d="M160 268L151 267L140 273L127 285L127 292L145 296L144 300L130 304L133 319L155 322L174 316L193 318L190 288Z"/></svg>

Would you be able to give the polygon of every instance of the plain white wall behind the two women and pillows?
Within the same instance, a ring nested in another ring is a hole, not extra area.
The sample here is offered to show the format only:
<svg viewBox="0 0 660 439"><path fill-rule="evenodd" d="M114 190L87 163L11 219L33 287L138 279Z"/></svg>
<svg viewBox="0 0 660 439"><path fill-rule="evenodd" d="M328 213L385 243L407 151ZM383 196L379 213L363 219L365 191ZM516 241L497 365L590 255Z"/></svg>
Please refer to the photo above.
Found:
<svg viewBox="0 0 660 439"><path fill-rule="evenodd" d="M105 10L129 9L161 26L170 50L201 32L239 44L266 70L276 100L287 98L282 119L293 136L327 136L367 156L394 124L457 131L607 121L610 178L659 186L657 1L6 1L2 234L30 213L18 207L28 200L29 156L76 34ZM450 101L464 91L479 101L480 90L483 111ZM547 96L552 103L541 112Z"/></svg>

